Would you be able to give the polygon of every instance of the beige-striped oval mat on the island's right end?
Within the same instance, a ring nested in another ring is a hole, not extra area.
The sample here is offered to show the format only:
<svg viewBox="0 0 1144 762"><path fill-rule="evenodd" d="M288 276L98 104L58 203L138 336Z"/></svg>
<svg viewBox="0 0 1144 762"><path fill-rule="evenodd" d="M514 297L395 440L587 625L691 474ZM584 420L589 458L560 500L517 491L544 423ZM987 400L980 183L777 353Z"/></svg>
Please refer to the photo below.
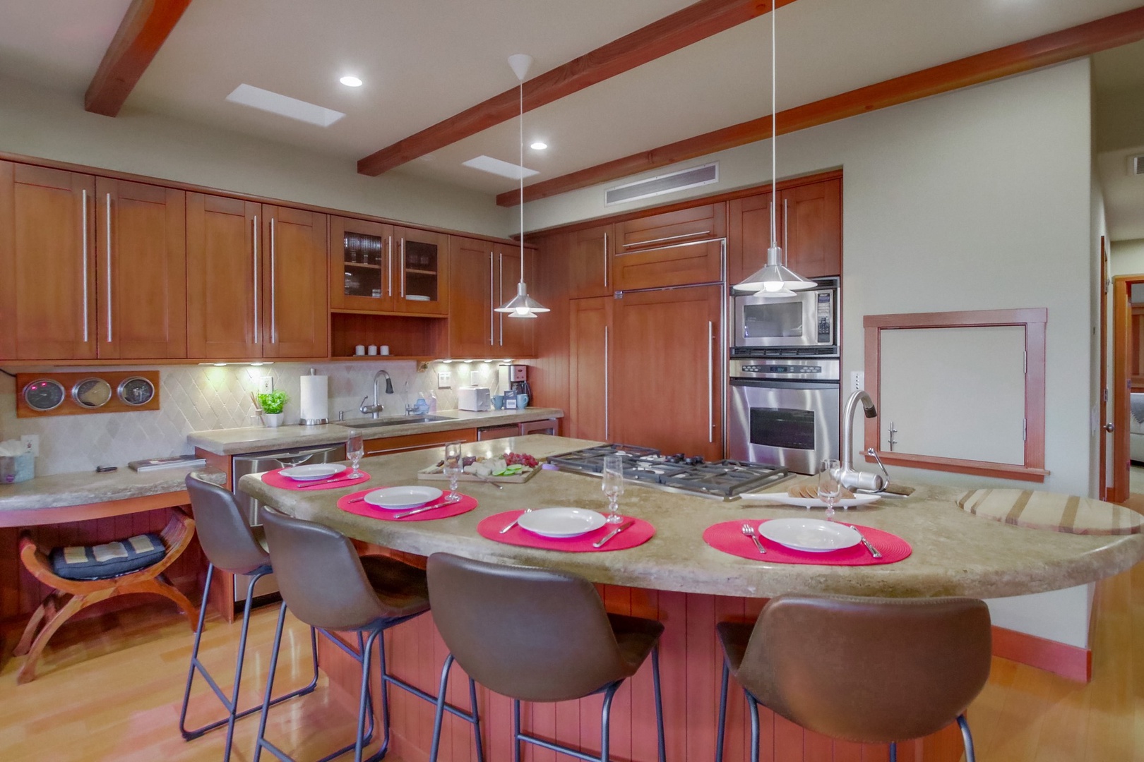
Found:
<svg viewBox="0 0 1144 762"><path fill-rule="evenodd" d="M975 489L958 499L977 516L1072 535L1135 535L1144 516L1088 497L1020 489Z"/></svg>

